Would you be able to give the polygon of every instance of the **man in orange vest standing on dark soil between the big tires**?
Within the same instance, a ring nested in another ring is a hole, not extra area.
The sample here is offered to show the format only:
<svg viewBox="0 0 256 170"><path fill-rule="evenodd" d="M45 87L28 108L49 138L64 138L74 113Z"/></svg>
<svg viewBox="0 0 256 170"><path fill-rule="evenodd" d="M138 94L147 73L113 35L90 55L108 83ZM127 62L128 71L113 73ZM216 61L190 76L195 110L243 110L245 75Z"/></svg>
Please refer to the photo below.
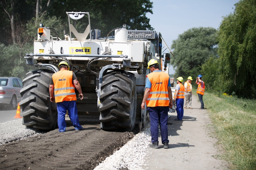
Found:
<svg viewBox="0 0 256 170"><path fill-rule="evenodd" d="M82 98L84 98L81 86L75 76L75 73L69 71L69 65L67 62L60 62L59 68L59 72L52 75L49 85L50 101L55 101L57 103L59 132L66 131L66 111L68 111L69 118L75 127L75 130L83 130L84 128L79 124L75 94L76 88L79 92L80 99L82 100Z"/></svg>

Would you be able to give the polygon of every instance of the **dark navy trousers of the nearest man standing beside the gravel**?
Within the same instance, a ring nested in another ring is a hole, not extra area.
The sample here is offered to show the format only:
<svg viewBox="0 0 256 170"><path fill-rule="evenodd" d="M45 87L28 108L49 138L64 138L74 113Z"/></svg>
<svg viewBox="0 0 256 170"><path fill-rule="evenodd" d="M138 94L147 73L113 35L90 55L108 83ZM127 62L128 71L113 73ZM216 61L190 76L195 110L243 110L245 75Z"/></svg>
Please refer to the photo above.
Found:
<svg viewBox="0 0 256 170"><path fill-rule="evenodd" d="M156 106L147 107L147 111L150 116L150 131L151 131L151 142L158 141L158 124L160 123L162 143L169 142L168 140L168 111L169 106Z"/></svg>

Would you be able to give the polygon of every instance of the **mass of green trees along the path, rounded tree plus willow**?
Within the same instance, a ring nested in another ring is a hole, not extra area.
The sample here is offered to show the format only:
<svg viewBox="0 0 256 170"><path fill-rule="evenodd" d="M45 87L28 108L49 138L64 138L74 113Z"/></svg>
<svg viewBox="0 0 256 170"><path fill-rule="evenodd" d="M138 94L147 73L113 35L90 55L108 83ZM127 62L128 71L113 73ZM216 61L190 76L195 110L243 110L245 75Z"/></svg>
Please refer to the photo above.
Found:
<svg viewBox="0 0 256 170"><path fill-rule="evenodd" d="M256 1L234 6L219 29L191 28L180 34L171 46L170 63L176 78L201 74L206 90L256 98Z"/></svg>

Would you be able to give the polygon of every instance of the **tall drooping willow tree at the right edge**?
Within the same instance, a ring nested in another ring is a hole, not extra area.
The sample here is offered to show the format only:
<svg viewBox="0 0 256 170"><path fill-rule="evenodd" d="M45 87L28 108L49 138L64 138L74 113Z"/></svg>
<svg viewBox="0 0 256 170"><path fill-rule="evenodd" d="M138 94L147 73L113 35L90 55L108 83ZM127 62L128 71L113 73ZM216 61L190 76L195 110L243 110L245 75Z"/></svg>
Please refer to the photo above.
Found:
<svg viewBox="0 0 256 170"><path fill-rule="evenodd" d="M235 4L219 29L220 76L228 94L256 97L256 1Z"/></svg>

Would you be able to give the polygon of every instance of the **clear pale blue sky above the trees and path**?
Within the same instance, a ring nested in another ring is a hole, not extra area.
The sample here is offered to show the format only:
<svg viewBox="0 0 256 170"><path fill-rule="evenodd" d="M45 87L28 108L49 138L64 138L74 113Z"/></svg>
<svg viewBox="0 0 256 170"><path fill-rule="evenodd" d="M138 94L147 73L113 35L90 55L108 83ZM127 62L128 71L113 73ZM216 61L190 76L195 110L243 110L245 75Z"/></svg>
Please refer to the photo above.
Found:
<svg viewBox="0 0 256 170"><path fill-rule="evenodd" d="M147 13L149 24L160 32L170 47L179 34L193 27L218 29L222 17L234 12L239 0L150 0L153 14ZM234 9L233 9L234 8ZM174 74L169 66L169 74Z"/></svg>

